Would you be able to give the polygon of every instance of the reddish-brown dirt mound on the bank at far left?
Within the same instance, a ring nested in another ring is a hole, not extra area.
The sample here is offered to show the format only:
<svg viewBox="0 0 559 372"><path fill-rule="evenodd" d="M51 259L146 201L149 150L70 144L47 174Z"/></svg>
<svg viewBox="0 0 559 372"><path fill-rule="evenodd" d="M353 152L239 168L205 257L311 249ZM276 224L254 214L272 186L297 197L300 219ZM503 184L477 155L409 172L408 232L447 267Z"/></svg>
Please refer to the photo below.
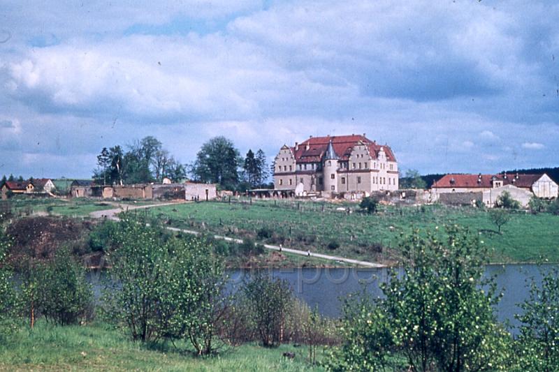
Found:
<svg viewBox="0 0 559 372"><path fill-rule="evenodd" d="M55 255L57 248L67 246L74 253L87 245L87 236L93 224L71 218L37 216L21 218L10 226L7 233L13 237L10 255L13 259L23 256L43 260Z"/></svg>

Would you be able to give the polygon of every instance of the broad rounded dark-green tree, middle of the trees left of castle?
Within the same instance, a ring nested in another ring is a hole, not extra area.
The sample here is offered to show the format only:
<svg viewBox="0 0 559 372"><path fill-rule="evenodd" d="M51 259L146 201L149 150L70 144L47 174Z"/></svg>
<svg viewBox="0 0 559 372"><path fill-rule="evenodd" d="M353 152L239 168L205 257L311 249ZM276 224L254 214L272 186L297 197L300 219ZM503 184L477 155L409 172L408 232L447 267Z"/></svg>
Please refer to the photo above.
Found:
<svg viewBox="0 0 559 372"><path fill-rule="evenodd" d="M235 188L241 163L239 151L226 137L214 137L203 144L196 155L191 173L194 179Z"/></svg>

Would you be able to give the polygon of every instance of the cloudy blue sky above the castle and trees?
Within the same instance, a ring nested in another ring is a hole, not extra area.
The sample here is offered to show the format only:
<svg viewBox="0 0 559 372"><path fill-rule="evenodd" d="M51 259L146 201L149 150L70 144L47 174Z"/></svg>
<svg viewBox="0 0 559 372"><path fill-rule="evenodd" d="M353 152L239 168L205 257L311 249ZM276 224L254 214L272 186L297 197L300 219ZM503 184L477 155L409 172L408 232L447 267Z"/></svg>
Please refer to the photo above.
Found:
<svg viewBox="0 0 559 372"><path fill-rule="evenodd" d="M558 166L556 1L0 1L0 174L366 133L422 174Z"/></svg>

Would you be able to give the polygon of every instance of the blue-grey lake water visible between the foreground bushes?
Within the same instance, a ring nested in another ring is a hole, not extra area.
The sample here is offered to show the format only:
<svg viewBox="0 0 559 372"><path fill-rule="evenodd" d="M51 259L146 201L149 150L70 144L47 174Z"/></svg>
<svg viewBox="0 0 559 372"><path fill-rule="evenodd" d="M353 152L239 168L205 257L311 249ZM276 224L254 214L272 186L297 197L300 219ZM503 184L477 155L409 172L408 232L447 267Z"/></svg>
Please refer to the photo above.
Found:
<svg viewBox="0 0 559 372"><path fill-rule="evenodd" d="M535 278L541 281L543 271L553 267L546 265L488 265L486 276L495 276L498 291L502 290L504 295L497 306L498 319L501 322L509 321L511 325L517 325L514 319L515 313L520 313L521 308L517 304L528 299L528 281ZM388 278L388 269L349 269L349 268L298 268L298 269L274 269L273 275L289 282L296 296L303 299L309 306L317 306L320 313L330 317L341 315L343 297L350 293L361 292L363 285L365 290L374 297L382 297L379 285ZM245 278L250 275L247 270L228 271L229 289L235 290ZM94 290L99 296L102 287L102 279L105 273L92 271L89 280L94 284Z"/></svg>

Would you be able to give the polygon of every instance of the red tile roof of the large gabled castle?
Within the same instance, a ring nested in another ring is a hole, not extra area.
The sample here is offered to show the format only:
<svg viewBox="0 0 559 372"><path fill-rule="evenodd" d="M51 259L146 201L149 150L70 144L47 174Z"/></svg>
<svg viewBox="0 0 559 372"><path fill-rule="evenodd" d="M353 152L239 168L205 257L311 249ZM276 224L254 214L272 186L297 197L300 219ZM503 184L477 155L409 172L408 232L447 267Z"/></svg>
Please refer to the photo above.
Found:
<svg viewBox="0 0 559 372"><path fill-rule="evenodd" d="M358 144L358 142L363 142L367 145L369 153L372 158L378 158L380 149L384 149L386 154L386 159L388 161L396 161L392 149L382 144L377 144L377 142L369 140L364 135L336 135L327 137L310 137L305 142L296 147L291 147L291 151L295 154L295 159L298 163L319 163L322 161L324 153L328 149L328 144L332 141L334 151L340 160L349 160L349 155L351 154L351 149ZM307 150L307 144L309 149Z"/></svg>

